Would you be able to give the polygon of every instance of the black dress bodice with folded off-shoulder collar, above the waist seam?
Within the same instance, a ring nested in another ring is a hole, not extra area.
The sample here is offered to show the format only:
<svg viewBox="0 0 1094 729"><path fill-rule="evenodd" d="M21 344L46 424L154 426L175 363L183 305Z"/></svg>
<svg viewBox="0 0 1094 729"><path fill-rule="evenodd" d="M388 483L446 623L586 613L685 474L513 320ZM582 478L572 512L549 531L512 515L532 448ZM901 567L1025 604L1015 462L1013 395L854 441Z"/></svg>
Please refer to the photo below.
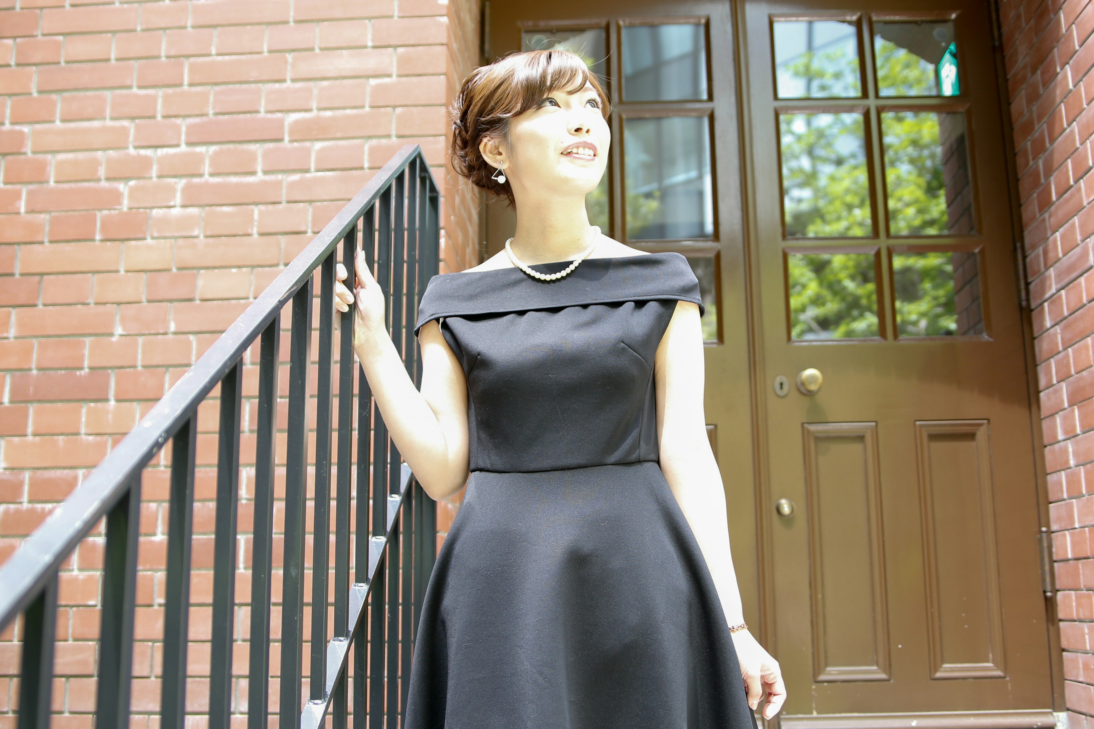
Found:
<svg viewBox="0 0 1094 729"><path fill-rule="evenodd" d="M441 319L463 366L470 470L656 461L653 361L677 301L702 310L676 252L590 258L550 282L516 268L430 279L415 333Z"/></svg>

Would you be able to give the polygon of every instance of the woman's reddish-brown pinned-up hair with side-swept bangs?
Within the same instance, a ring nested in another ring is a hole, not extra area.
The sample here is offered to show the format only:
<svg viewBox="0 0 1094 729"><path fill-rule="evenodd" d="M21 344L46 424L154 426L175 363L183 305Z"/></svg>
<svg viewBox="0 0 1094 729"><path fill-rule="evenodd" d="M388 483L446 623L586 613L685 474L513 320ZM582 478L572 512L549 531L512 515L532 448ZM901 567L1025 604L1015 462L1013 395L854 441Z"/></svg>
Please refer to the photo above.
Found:
<svg viewBox="0 0 1094 729"><path fill-rule="evenodd" d="M479 142L502 139L509 120L535 108L555 91L575 94L590 84L601 98L606 119L610 106L604 87L585 62L569 50L514 52L489 66L480 66L464 80L452 108L452 168L473 184L509 198L513 189L491 179L497 173L479 152Z"/></svg>

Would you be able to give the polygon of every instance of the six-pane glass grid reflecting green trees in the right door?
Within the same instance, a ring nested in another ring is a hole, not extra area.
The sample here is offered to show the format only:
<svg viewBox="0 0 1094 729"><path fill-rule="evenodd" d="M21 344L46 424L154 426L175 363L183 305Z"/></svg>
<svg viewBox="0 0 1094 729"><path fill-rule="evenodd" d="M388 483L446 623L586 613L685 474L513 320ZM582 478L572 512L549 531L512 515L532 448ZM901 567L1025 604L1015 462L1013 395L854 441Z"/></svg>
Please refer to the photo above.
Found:
<svg viewBox="0 0 1094 729"><path fill-rule="evenodd" d="M938 105L962 94L954 21L772 17L771 40L783 238L827 243L784 254L790 341L984 337L978 252L884 243L977 232L964 106ZM876 237L884 277L854 243Z"/></svg>

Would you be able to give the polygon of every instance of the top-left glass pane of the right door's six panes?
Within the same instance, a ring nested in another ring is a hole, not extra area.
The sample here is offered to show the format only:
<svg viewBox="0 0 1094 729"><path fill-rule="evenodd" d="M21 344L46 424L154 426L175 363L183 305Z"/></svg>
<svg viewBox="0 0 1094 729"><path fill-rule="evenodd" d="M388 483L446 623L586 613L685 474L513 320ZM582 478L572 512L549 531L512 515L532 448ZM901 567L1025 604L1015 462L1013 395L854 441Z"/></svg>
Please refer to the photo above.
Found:
<svg viewBox="0 0 1094 729"><path fill-rule="evenodd" d="M771 31L779 98L862 95L854 21L776 21Z"/></svg>

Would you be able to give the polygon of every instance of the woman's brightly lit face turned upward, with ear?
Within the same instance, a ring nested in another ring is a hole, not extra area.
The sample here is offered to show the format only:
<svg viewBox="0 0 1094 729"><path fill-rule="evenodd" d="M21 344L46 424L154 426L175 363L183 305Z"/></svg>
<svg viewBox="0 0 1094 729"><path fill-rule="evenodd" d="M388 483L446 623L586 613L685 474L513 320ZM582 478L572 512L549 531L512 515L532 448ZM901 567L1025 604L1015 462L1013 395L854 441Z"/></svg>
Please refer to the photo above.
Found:
<svg viewBox="0 0 1094 729"><path fill-rule="evenodd" d="M508 139L484 140L482 156L501 162L517 200L580 196L596 188L607 166L612 132L589 84L575 94L556 91L509 121Z"/></svg>

